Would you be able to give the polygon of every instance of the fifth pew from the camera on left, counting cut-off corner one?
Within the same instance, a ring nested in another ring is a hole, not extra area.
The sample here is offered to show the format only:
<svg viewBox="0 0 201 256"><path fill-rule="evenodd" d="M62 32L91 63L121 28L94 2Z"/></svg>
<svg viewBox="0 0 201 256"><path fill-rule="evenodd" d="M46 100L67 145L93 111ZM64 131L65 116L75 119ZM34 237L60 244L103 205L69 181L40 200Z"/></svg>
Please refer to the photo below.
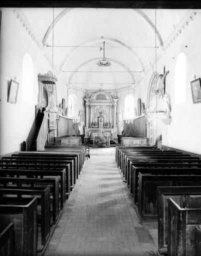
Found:
<svg viewBox="0 0 201 256"><path fill-rule="evenodd" d="M59 176L60 182L60 208L63 209L65 205L65 182L66 182L66 171L64 169L58 170L21 170L21 169L0 169L0 176L16 176L16 177L27 177L27 178L49 178Z"/></svg>

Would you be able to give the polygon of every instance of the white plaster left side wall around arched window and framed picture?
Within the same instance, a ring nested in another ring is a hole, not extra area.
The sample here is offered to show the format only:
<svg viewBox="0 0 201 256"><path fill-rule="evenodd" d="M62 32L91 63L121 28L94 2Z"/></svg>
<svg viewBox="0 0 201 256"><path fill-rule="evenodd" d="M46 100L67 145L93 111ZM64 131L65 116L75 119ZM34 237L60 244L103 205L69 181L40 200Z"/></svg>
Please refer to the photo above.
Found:
<svg viewBox="0 0 201 256"><path fill-rule="evenodd" d="M51 70L51 65L28 35L20 20L9 8L1 8L0 30L0 154L20 149L20 143L26 140L35 117L38 95L38 73ZM28 52L33 61L33 93L29 95L31 104L22 100L22 62ZM10 79L19 82L16 104L7 102ZM65 84L58 79L58 101L67 99Z"/></svg>

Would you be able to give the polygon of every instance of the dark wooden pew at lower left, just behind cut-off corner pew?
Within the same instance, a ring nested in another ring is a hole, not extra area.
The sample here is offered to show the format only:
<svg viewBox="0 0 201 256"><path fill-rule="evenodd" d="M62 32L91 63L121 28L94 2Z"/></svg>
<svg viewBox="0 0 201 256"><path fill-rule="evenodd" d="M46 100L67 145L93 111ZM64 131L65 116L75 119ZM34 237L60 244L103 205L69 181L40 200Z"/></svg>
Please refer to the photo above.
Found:
<svg viewBox="0 0 201 256"><path fill-rule="evenodd" d="M0 191L0 195L2 195L2 191ZM0 199L0 201L1 200L2 198ZM19 200L15 200L15 205L0 204L0 220L0 226L2 226L2 228L7 226L11 221L14 222L15 256L37 255L36 198L32 198L29 200L20 198Z"/></svg>

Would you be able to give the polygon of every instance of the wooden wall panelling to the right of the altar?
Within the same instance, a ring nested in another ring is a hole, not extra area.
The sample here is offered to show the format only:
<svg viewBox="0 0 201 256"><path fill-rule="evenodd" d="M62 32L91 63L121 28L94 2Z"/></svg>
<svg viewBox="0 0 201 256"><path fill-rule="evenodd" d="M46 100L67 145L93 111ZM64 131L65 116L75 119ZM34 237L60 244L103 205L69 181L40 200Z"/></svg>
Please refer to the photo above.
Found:
<svg viewBox="0 0 201 256"><path fill-rule="evenodd" d="M123 133L129 136L146 137L147 126L144 116L134 119L133 122L124 121Z"/></svg>

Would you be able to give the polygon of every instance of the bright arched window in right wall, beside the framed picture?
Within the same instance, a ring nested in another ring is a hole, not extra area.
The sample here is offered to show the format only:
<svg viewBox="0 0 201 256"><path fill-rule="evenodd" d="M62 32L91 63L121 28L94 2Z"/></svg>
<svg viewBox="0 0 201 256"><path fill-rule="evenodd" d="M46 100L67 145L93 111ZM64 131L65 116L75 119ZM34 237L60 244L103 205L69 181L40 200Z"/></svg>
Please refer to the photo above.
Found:
<svg viewBox="0 0 201 256"><path fill-rule="evenodd" d="M177 57L175 65L175 103L180 104L186 101L187 60L184 52Z"/></svg>

